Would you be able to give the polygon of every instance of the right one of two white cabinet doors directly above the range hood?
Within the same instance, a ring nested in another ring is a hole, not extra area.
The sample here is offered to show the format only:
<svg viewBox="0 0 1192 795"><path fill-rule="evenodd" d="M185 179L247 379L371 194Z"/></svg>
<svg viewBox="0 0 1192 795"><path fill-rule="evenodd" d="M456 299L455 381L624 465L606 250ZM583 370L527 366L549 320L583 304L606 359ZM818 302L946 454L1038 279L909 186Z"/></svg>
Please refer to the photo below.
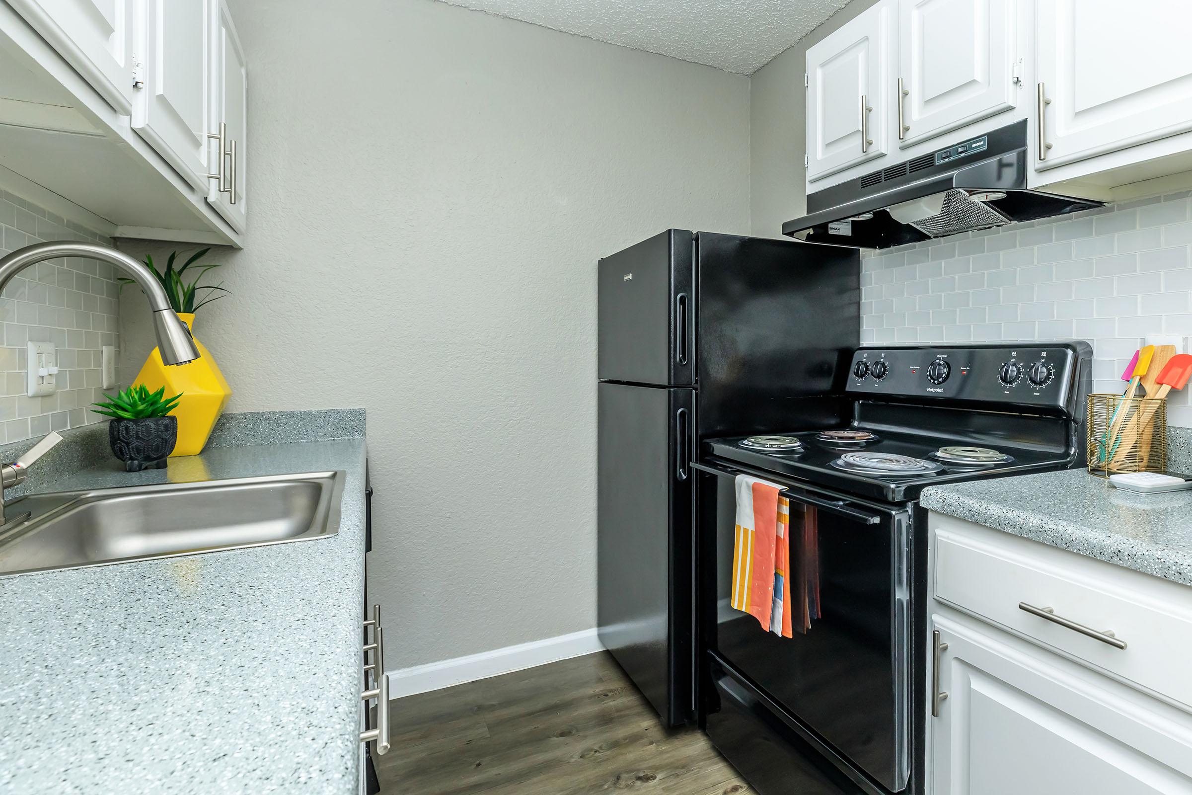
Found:
<svg viewBox="0 0 1192 795"><path fill-rule="evenodd" d="M899 145L1014 107L1014 6L1013 0L900 0Z"/></svg>

